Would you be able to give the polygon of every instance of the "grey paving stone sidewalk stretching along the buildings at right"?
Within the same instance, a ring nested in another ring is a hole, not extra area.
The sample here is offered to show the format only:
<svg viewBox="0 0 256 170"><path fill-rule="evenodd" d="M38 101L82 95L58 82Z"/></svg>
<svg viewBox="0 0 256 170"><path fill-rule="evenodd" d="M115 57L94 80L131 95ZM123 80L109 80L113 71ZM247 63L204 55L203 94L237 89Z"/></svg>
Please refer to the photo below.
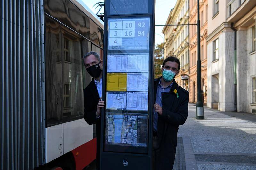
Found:
<svg viewBox="0 0 256 170"><path fill-rule="evenodd" d="M204 108L205 119L196 120L195 112L189 104L173 169L256 169L256 115Z"/></svg>

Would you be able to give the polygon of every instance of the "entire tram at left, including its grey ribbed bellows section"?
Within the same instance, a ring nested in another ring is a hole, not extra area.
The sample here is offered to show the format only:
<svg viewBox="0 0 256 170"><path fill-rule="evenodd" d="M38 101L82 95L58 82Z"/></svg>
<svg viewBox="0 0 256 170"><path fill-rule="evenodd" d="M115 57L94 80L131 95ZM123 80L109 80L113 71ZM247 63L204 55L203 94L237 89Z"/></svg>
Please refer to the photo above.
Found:
<svg viewBox="0 0 256 170"><path fill-rule="evenodd" d="M96 159L96 127L84 120L92 78L83 55L103 57L103 22L82 0L2 7L0 169L85 168Z"/></svg>

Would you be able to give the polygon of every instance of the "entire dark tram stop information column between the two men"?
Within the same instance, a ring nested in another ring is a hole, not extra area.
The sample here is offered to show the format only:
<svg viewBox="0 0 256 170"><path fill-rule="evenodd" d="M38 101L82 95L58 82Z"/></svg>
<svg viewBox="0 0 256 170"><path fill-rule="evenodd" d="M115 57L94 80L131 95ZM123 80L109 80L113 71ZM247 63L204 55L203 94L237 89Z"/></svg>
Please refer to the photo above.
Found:
<svg viewBox="0 0 256 170"><path fill-rule="evenodd" d="M101 170L151 169L154 0L105 0Z"/></svg>

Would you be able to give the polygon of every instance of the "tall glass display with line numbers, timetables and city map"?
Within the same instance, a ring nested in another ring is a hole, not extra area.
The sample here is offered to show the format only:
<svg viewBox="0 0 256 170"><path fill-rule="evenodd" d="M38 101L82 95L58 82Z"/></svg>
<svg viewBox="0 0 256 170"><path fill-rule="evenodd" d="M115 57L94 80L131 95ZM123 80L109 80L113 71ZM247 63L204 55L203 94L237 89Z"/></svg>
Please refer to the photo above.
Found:
<svg viewBox="0 0 256 170"><path fill-rule="evenodd" d="M148 153L149 24L108 19L104 151Z"/></svg>

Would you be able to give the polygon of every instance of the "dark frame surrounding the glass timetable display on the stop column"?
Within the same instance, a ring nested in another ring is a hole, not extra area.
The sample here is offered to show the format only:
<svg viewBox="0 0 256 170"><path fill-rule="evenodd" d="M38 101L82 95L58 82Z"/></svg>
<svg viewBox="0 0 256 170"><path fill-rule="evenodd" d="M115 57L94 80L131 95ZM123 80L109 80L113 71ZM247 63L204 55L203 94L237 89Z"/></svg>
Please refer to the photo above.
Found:
<svg viewBox="0 0 256 170"><path fill-rule="evenodd" d="M106 14L105 8L105 14ZM155 9L155 2L153 5L153 10ZM155 11L155 10L154 10ZM131 15L111 15L104 17L104 47L103 47L103 82L102 82L102 100L105 101L105 107L101 110L101 141L100 141L100 155L101 158L104 154L109 155L120 155L120 156L140 156L140 157L152 157L152 133L153 133L153 100L154 100L154 33L155 33L155 12L152 11L151 14L131 14ZM108 19L111 18L141 18L148 17L149 21L149 82L148 82L148 153L147 154L136 154L136 153L120 153L120 152L105 152L105 119L106 119L106 75L107 75L107 52L108 52ZM150 160L151 163L151 160ZM100 166L102 167L102 161L100 160ZM150 169L152 167L150 166Z"/></svg>

